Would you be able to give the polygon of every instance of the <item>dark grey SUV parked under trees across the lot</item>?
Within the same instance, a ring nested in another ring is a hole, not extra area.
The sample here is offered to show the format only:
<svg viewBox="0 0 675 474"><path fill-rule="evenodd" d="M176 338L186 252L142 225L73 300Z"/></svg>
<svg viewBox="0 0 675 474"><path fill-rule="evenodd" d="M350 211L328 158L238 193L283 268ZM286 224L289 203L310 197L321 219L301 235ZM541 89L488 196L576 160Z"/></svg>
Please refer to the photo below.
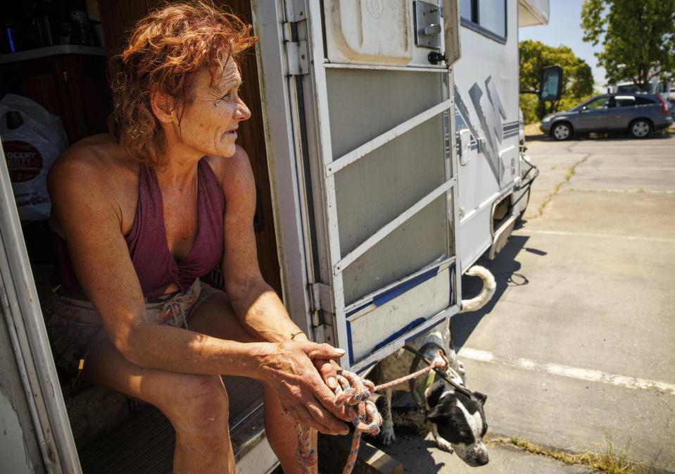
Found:
<svg viewBox="0 0 675 474"><path fill-rule="evenodd" d="M647 137L653 130L673 123L670 104L657 94L604 94L570 111L551 113L542 120L541 131L557 140L589 132L629 132Z"/></svg>

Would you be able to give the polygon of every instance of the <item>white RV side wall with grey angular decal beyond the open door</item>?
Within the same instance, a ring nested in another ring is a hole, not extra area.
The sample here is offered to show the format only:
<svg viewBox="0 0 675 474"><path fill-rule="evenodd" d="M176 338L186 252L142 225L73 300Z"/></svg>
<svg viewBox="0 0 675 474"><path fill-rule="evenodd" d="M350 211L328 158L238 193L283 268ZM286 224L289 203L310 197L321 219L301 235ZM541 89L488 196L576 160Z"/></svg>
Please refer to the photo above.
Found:
<svg viewBox="0 0 675 474"><path fill-rule="evenodd" d="M519 180L518 2L506 6L503 40L462 23L462 58L453 68L460 152L469 149L458 170L462 273L491 245L491 204Z"/></svg>

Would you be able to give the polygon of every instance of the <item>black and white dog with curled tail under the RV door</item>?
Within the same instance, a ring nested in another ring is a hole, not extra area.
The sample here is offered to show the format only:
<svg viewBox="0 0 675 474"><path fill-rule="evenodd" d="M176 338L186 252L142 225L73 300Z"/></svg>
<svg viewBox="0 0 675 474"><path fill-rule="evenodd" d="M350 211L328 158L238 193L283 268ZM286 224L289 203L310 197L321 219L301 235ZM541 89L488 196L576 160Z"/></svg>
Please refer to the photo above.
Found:
<svg viewBox="0 0 675 474"><path fill-rule="evenodd" d="M483 280L483 289L478 297L462 301L462 312L475 311L486 304L495 292L495 282L492 274L485 268L474 266L467 274L476 275ZM455 351L450 347L450 321L446 320L437 326L433 332L423 335L410 344L415 349L429 344L424 356L433 361L437 356L438 347L442 347L448 363L456 375L452 380L460 387L465 387L464 369L458 362ZM375 378L378 383L388 382L408 374L414 355L405 349L399 349L391 356L384 358L377 364ZM488 451L483 442L488 425L485 420L483 405L486 396L480 392L468 392L455 389L445 380L431 381L430 386L424 389L426 404L425 420L431 422L431 433L436 440L436 446L444 451L457 454L469 466L484 466L488 463ZM384 404L381 408L383 418L381 436L384 444L391 444L396 440L391 418L391 395L396 389L408 390L408 384L400 384L384 389ZM417 390L416 390L417 391ZM470 394L468 396L467 394Z"/></svg>

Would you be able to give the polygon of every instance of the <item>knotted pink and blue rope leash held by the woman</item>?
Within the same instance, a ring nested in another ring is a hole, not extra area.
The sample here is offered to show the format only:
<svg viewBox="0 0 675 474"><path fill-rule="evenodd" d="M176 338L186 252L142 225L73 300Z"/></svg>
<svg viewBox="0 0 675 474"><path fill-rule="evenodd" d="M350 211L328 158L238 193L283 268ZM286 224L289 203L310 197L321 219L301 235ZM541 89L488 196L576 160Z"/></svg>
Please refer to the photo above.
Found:
<svg viewBox="0 0 675 474"><path fill-rule="evenodd" d="M355 426L347 465L342 471L342 474L350 474L354 467L359 444L361 442L361 433L367 432L371 435L377 435L379 433L379 427L382 424L382 416L379 414L379 411L377 411L375 404L369 400L370 396L381 389L408 382L408 380L417 378L434 368L447 368L447 366L448 361L444 356L436 357L431 365L417 370L415 373L406 375L405 377L392 380L391 382L382 385L377 385L377 387L370 380L360 378L355 373L348 372L347 370L341 370L338 373L338 387L335 389L336 397L333 404L335 406L346 405L347 413L351 416L351 421ZM298 436L298 450L296 451L298 466L300 466L303 473L309 474L311 473L313 466L317 463L317 453L312 448L310 439L310 428L303 428L300 423L296 423L295 428Z"/></svg>

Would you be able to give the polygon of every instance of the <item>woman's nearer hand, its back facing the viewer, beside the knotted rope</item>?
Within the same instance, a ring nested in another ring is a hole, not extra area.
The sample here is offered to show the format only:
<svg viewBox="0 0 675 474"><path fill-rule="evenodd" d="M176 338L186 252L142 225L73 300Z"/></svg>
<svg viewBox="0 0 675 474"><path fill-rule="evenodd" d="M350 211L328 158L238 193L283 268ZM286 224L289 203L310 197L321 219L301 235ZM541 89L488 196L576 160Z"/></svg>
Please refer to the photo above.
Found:
<svg viewBox="0 0 675 474"><path fill-rule="evenodd" d="M340 358L344 351L329 344L296 341L270 347L272 350L261 356L263 380L275 387L282 407L305 427L327 435L348 433L347 425L339 419L348 417L342 407L334 406L335 394L314 363ZM321 364L322 368L326 365Z"/></svg>

